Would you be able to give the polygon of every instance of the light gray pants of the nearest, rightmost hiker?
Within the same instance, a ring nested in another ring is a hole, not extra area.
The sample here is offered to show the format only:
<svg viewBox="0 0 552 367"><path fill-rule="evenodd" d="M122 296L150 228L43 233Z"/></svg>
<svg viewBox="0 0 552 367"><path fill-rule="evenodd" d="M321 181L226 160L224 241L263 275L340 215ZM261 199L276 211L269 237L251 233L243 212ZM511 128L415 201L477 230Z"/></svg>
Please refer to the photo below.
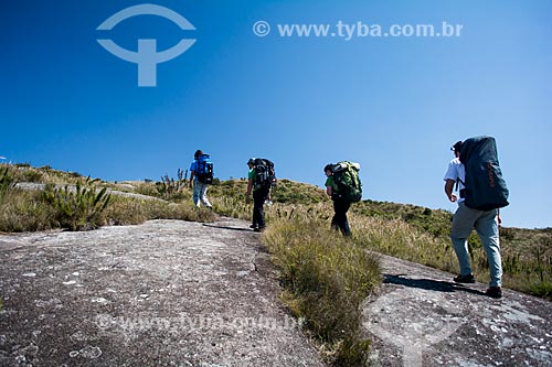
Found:
<svg viewBox="0 0 552 367"><path fill-rule="evenodd" d="M490 287L502 284L502 260L500 258L500 241L498 237L497 209L477 211L459 203L453 216L450 239L460 266L460 276L471 273L468 253L468 238L475 228L487 253L490 271Z"/></svg>

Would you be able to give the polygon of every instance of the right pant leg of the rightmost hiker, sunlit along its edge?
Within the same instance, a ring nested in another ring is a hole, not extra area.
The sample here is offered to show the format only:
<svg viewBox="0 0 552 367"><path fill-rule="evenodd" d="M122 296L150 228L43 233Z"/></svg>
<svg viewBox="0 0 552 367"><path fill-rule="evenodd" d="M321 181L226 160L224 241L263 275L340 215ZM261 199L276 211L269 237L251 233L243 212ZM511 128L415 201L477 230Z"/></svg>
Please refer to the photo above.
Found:
<svg viewBox="0 0 552 367"><path fill-rule="evenodd" d="M487 253L490 271L489 287L502 285L502 259L498 235L497 211L485 212L476 222L476 230Z"/></svg>

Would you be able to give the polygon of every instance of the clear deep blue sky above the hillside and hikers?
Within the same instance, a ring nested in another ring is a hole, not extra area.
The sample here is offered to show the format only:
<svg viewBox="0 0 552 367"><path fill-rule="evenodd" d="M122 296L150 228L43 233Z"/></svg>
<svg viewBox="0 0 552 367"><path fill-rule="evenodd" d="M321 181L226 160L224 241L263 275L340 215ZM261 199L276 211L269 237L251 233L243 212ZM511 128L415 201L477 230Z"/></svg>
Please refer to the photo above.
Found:
<svg viewBox="0 0 552 367"><path fill-rule="evenodd" d="M277 175L321 186L322 168L360 162L364 198L454 211L443 175L457 140L490 134L510 188L505 226L551 227L552 2L151 1L181 30L138 15L98 25L141 1L0 2L0 155L110 181L159 180L197 149L216 176L243 177L250 156ZM270 33L257 36L257 21ZM278 24L461 24L453 37L280 36ZM157 50L137 65L96 40Z"/></svg>

